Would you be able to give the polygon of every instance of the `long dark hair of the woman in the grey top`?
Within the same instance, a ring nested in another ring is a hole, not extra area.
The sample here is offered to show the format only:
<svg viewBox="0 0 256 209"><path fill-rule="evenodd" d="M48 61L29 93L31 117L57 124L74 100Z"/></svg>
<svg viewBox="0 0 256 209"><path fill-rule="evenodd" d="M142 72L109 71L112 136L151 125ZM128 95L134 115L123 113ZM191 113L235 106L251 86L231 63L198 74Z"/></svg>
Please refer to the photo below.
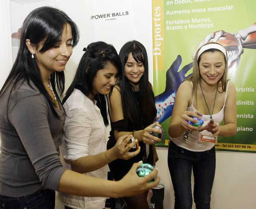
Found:
<svg viewBox="0 0 256 209"><path fill-rule="evenodd" d="M0 98L9 86L12 86L10 90L11 94L18 82L22 84L24 81L27 81L28 85L33 88L30 83L30 81L32 81L47 99L52 112L59 118L54 109L55 103L43 85L36 56L35 58L31 58L31 53L26 46L26 39L30 39L31 44L36 47L45 39L43 47L40 49L40 53L44 53L56 45L67 23L71 26L72 30L72 46L76 46L79 40L78 28L64 12L52 7L39 7L28 14L22 25L17 58L5 84L0 90ZM59 97L62 97L64 92L64 72L53 72L50 76L50 81L53 91L56 93L57 99L59 100Z"/></svg>

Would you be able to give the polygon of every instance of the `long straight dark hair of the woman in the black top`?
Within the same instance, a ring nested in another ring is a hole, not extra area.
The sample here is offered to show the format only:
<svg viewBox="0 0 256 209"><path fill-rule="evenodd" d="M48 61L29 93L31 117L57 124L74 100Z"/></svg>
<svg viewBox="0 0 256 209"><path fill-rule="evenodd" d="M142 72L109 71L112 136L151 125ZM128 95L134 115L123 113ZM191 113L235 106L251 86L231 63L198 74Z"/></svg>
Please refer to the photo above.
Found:
<svg viewBox="0 0 256 209"><path fill-rule="evenodd" d="M156 121L156 107L152 85L149 83L148 77L147 51L140 42L135 40L124 44L119 53L122 63L122 74L119 83L121 88L123 114L125 118L129 118L136 126L141 126L139 109L137 109L137 105L135 105L136 99L134 97L134 89L124 74L124 68L129 53L132 53L132 56L136 62L142 62L145 68L144 74L139 81L140 98L142 101L143 126L145 127Z"/></svg>

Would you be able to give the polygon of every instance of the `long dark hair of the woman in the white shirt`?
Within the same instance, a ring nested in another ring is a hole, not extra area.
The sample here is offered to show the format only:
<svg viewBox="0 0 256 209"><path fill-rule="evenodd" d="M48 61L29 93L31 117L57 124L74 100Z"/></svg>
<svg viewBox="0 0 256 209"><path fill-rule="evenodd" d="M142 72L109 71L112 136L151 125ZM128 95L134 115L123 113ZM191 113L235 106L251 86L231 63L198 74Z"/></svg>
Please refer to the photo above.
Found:
<svg viewBox="0 0 256 209"><path fill-rule="evenodd" d="M72 81L71 86L66 92L63 99L63 103L69 98L74 88L79 89L83 94L89 96L92 93L92 82L97 72L103 69L108 63L111 63L118 70L118 74L121 72L122 65L116 49L111 44L105 42L94 42L84 49L78 68L76 70L75 78ZM100 108L101 115L104 120L104 124L109 124L108 120L108 98L107 95L97 93L95 95L97 106Z"/></svg>

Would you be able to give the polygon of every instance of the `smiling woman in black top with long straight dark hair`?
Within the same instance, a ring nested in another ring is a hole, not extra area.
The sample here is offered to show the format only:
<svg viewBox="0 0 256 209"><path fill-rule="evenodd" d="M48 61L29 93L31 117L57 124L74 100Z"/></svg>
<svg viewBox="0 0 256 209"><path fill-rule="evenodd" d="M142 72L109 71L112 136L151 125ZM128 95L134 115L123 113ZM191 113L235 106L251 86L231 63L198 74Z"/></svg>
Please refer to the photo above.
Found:
<svg viewBox="0 0 256 209"><path fill-rule="evenodd" d="M138 139L140 153L129 160L115 160L109 164L115 180L120 180L133 163L143 160L155 164L157 154L155 142L160 139L149 133L160 132L152 128L159 125L156 121L154 93L148 80L148 62L145 47L137 41L124 44L119 57L123 66L119 84L113 88L110 96L111 133L107 148L110 149L116 140L125 134L132 134ZM146 209L147 192L133 197L125 197L129 208Z"/></svg>

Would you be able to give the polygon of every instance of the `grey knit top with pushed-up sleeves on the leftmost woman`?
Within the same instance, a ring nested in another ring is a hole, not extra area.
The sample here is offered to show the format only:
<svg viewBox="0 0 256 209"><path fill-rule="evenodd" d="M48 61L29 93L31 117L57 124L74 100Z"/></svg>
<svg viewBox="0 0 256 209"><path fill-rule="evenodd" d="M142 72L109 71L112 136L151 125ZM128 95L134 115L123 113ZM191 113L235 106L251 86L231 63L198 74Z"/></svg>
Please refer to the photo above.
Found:
<svg viewBox="0 0 256 209"><path fill-rule="evenodd" d="M58 119L45 96L32 83L8 87L0 98L0 195L21 197L37 190L58 190L65 171L59 144L65 114ZM9 98L9 104L7 101Z"/></svg>

